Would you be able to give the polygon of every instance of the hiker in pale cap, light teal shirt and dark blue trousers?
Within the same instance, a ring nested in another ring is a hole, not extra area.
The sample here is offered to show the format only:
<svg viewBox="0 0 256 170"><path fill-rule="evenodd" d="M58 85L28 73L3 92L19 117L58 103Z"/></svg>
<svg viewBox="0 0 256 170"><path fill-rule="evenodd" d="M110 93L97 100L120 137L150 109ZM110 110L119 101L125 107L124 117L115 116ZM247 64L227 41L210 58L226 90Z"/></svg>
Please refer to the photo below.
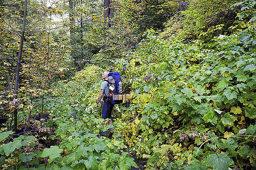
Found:
<svg viewBox="0 0 256 170"><path fill-rule="evenodd" d="M112 124L111 121L111 112L113 110L114 105L111 104L111 102L109 101L109 95L110 95L110 90L109 90L109 83L108 83L108 73L109 72L103 72L102 74L102 79L104 81L102 81L101 86L100 86L100 93L99 93L99 97L96 101L96 105L95 107L97 108L99 105L99 102L102 99L103 96L103 105L102 105L102 118L103 119L107 119L109 118L108 124ZM104 123L105 125L107 125L107 123ZM113 128L110 128L110 132L113 134ZM107 136L107 131L102 133L103 136Z"/></svg>

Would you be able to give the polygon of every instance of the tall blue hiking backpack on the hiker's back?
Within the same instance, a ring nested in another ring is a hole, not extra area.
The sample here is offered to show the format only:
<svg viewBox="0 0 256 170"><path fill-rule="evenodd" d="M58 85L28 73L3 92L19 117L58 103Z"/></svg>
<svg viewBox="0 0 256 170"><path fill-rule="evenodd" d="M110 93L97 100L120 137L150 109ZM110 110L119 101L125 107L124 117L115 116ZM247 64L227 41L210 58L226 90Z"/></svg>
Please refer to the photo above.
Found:
<svg viewBox="0 0 256 170"><path fill-rule="evenodd" d="M122 79L119 72L110 72L108 73L108 83L110 89L110 97L112 104L121 104L122 100L119 100L118 95L121 95L123 92L122 88Z"/></svg>

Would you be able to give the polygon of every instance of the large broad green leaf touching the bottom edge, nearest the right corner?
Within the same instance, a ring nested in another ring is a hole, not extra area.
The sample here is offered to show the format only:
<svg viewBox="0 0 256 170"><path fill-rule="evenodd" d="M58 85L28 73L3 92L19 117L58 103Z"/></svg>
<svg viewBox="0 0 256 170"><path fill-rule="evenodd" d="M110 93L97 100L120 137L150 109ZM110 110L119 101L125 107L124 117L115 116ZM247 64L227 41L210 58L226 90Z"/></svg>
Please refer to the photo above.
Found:
<svg viewBox="0 0 256 170"><path fill-rule="evenodd" d="M213 166L214 170L227 170L232 163L233 161L225 153L210 154L206 160L206 165Z"/></svg>

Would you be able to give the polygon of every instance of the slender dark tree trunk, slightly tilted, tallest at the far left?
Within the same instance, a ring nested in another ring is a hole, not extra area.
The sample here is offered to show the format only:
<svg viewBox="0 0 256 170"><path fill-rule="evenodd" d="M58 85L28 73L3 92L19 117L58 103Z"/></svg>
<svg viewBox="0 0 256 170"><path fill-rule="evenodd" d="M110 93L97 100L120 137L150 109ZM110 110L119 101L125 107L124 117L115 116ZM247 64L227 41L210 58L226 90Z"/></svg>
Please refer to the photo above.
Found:
<svg viewBox="0 0 256 170"><path fill-rule="evenodd" d="M14 98L15 99L17 99L17 93L18 93L17 91L18 91L18 85L19 85L20 61L21 61L21 56L22 56L25 26L26 26L27 3L28 3L28 1L25 0L22 32L21 32L21 37L20 37L20 50L19 50L19 55L18 55L18 60L17 60L16 77L15 77L15 89L14 89ZM14 131L17 132L17 108L16 107L15 107L13 114L14 114Z"/></svg>

